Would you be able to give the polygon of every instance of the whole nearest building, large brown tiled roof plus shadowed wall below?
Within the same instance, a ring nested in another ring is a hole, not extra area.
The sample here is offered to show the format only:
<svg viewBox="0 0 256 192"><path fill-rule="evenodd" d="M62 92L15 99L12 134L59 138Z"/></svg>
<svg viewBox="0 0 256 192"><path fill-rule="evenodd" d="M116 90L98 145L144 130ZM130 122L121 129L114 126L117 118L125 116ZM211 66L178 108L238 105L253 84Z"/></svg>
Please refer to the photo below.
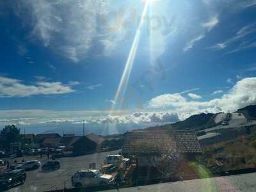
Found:
<svg viewBox="0 0 256 192"><path fill-rule="evenodd" d="M132 131L122 148L123 156L137 157L138 166L152 166L169 152L190 160L202 150L194 131Z"/></svg>

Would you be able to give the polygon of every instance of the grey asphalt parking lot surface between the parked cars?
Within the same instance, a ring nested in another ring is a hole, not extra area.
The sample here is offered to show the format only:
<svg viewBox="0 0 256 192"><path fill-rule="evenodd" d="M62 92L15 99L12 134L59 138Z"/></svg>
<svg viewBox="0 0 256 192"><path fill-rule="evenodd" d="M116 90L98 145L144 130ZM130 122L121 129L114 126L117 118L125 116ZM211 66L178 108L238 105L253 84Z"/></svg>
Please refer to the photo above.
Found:
<svg viewBox="0 0 256 192"><path fill-rule="evenodd" d="M26 172L27 179L24 185L15 186L9 191L51 191L54 189L72 188L71 176L81 168L89 168L90 163L96 163L96 167L100 168L103 159L110 154L118 154L119 150L111 152L102 152L99 154L90 154L79 157L65 157L59 160L61 163L60 170L53 172L42 172L41 168ZM27 160L31 160L29 157ZM34 157L34 160L37 159ZM46 158L38 159L42 163ZM19 160L18 160L19 161Z"/></svg>

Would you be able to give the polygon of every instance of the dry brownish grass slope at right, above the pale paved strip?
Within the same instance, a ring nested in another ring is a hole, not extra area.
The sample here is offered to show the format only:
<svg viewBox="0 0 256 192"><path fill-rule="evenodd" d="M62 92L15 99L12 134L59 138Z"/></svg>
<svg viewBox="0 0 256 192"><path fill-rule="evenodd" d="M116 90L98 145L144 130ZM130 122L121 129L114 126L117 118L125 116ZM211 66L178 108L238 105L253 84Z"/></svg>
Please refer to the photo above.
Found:
<svg viewBox="0 0 256 192"><path fill-rule="evenodd" d="M220 166L216 159L225 158L225 163ZM237 170L256 167L256 134L241 136L233 141L217 143L205 148L200 163L204 164L211 172Z"/></svg>

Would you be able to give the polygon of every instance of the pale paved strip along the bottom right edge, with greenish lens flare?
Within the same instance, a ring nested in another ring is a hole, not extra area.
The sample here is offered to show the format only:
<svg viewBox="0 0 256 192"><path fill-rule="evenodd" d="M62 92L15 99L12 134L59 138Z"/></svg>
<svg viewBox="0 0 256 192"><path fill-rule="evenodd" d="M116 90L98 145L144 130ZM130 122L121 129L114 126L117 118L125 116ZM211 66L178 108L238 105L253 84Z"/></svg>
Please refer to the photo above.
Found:
<svg viewBox="0 0 256 192"><path fill-rule="evenodd" d="M211 179L186 180L183 182L170 182L165 184L155 184L150 186L141 186L135 188L109 190L108 192L207 192L207 191L256 191L256 173L248 173L243 175L232 175L227 177L215 177Z"/></svg>

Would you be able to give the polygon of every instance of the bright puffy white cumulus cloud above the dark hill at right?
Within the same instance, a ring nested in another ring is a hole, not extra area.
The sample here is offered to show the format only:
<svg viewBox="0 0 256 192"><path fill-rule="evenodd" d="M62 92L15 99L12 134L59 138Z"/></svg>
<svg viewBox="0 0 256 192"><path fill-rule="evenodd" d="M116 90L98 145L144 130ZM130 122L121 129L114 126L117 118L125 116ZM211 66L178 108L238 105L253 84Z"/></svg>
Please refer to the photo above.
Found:
<svg viewBox="0 0 256 192"><path fill-rule="evenodd" d="M172 109L183 119L197 113L218 113L221 111L236 111L250 104L256 104L256 77L244 78L220 98L204 102L188 101L180 93L159 95L151 99L147 108Z"/></svg>

